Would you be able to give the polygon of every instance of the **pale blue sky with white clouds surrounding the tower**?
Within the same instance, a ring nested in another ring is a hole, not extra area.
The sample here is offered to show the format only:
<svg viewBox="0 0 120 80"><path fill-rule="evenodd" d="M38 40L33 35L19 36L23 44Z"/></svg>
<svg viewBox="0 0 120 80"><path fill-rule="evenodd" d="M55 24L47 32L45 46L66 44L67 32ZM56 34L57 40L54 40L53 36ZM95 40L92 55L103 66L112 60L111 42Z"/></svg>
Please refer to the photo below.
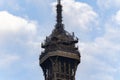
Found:
<svg viewBox="0 0 120 80"><path fill-rule="evenodd" d="M41 42L56 0L0 0L0 80L44 80ZM79 38L76 80L120 79L120 0L62 0L63 23Z"/></svg>

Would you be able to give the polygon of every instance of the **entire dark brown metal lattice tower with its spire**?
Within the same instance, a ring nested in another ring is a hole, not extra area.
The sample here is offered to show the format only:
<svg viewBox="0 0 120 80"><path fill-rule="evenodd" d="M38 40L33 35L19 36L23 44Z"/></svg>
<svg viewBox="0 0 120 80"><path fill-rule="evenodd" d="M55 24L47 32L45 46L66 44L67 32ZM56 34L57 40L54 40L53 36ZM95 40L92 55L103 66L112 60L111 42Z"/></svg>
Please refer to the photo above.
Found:
<svg viewBox="0 0 120 80"><path fill-rule="evenodd" d="M57 24L52 34L46 37L40 55L45 80L75 80L77 66L80 63L80 52L76 43L78 38L70 34L62 24L62 5L57 3Z"/></svg>

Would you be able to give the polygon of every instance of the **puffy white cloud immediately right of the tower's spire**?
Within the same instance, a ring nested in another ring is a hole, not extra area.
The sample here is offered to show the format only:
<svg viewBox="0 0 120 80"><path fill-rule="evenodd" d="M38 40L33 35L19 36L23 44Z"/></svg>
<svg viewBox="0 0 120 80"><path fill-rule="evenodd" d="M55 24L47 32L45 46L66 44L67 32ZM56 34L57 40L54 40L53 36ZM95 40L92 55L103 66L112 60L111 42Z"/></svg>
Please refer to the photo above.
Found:
<svg viewBox="0 0 120 80"><path fill-rule="evenodd" d="M98 24L98 14L90 5L75 0L62 0L62 5L63 21L68 27L79 27L82 31L89 31Z"/></svg>

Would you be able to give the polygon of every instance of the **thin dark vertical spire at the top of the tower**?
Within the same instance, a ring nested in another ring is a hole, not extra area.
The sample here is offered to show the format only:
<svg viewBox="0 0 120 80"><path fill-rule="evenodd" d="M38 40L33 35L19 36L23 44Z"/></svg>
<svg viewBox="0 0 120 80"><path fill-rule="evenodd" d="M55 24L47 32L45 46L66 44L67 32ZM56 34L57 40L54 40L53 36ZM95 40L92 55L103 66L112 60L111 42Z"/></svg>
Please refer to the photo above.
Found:
<svg viewBox="0 0 120 80"><path fill-rule="evenodd" d="M62 5L61 5L61 0L57 0L57 24L62 24Z"/></svg>

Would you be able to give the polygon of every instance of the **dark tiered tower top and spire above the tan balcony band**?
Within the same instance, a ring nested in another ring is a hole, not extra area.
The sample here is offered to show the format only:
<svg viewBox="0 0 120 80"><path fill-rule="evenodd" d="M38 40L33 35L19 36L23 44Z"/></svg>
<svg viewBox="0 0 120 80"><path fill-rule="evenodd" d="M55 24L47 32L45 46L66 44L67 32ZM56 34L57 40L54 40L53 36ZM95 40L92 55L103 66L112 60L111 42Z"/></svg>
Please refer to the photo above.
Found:
<svg viewBox="0 0 120 80"><path fill-rule="evenodd" d="M61 0L57 0L57 23L55 29L53 29L50 36L46 37L44 43L41 47L44 48L44 52L41 54L40 58L52 51L65 51L75 53L80 56L78 47L75 46L78 43L78 38L75 37L74 33L70 34L64 29L62 24L62 5Z"/></svg>

